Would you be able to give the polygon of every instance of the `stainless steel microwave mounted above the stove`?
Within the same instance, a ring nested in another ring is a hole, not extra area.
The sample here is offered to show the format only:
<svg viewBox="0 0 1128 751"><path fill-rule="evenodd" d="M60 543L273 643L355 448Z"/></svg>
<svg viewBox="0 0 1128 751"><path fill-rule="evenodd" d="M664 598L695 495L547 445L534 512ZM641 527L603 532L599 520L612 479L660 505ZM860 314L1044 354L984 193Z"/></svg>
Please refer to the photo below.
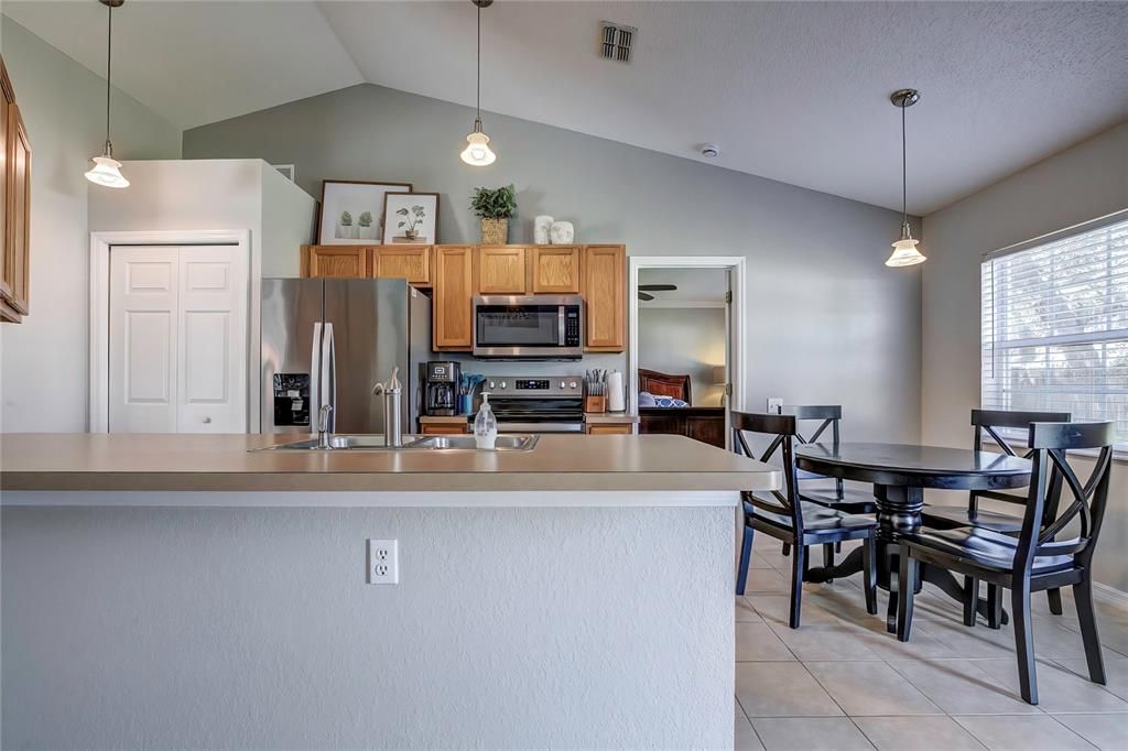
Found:
<svg viewBox="0 0 1128 751"><path fill-rule="evenodd" d="M579 294L474 298L474 356L579 360L583 356L583 299Z"/></svg>

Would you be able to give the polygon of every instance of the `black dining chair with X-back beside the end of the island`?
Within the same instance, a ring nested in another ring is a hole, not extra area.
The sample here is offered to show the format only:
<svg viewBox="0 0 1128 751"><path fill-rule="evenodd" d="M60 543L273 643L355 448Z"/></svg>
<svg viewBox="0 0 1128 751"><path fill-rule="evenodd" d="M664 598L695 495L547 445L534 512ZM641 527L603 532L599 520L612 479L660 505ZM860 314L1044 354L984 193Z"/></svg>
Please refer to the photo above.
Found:
<svg viewBox="0 0 1128 751"><path fill-rule="evenodd" d="M799 628L799 613L803 592L803 576L808 568L808 547L834 545L843 540L862 540L863 590L865 609L871 615L878 612L878 558L876 521L872 518L848 514L837 509L804 501L799 495L796 478L794 439L794 415L759 415L744 412L731 413L733 447L737 453L763 462L772 462L781 452L784 474L783 492L770 494L742 493L744 510L744 539L740 548L740 566L737 574L737 594L744 593L748 582L748 565L752 557L752 537L764 532L791 545L791 617L792 628ZM748 443L746 434L768 436L768 447L757 457Z"/></svg>

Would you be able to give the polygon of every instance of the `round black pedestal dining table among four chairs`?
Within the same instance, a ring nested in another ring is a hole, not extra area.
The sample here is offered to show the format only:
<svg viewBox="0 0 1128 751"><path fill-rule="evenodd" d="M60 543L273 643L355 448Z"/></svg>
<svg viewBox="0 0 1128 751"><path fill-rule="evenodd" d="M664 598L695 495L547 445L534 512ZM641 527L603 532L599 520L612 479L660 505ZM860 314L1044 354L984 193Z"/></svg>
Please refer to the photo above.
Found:
<svg viewBox="0 0 1128 751"><path fill-rule="evenodd" d="M898 540L920 528L926 488L943 491L1002 491L1030 484L1031 462L990 451L946 449L897 443L809 443L795 448L799 469L826 477L873 485L878 507L878 585L890 589L896 572ZM861 548L838 565L811 568L804 581L826 582L862 571ZM963 585L948 571L922 564L920 580L963 602ZM987 616L987 602L978 601ZM890 595L885 624L896 629L897 598ZM1005 617L1005 616L1004 616Z"/></svg>

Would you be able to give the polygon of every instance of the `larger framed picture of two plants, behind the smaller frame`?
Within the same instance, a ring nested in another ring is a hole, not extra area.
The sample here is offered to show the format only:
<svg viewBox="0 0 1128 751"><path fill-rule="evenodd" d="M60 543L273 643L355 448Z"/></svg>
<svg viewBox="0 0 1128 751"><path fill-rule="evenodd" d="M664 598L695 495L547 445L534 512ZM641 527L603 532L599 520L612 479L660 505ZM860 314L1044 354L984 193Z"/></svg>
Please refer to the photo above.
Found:
<svg viewBox="0 0 1128 751"><path fill-rule="evenodd" d="M321 180L319 245L376 245L384 237L384 196L411 191L411 183Z"/></svg>

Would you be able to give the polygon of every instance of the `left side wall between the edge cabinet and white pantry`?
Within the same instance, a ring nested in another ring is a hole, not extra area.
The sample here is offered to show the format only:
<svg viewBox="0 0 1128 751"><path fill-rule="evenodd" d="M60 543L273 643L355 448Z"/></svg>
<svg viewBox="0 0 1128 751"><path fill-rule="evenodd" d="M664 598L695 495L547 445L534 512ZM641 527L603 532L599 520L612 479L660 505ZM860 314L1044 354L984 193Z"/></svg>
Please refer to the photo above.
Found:
<svg viewBox="0 0 1128 751"><path fill-rule="evenodd" d="M106 139L106 82L10 18L2 44L32 141L32 312L0 326L0 430L83 431L87 195L113 191L82 174ZM116 89L113 105L115 156L179 157L179 129Z"/></svg>

